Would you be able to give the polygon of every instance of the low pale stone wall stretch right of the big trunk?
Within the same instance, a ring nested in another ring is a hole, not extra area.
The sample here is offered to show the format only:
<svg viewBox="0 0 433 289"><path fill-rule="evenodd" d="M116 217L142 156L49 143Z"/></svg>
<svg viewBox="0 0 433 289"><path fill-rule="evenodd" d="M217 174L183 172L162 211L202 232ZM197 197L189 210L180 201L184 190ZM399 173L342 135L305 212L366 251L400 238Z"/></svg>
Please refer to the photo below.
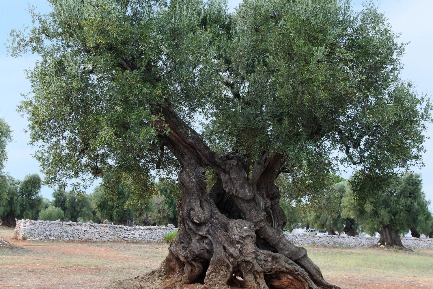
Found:
<svg viewBox="0 0 433 289"><path fill-rule="evenodd" d="M369 247L377 244L377 237L348 237L333 235L289 234L286 238L299 246L318 247ZM410 249L433 249L433 238L401 238L403 246Z"/></svg>

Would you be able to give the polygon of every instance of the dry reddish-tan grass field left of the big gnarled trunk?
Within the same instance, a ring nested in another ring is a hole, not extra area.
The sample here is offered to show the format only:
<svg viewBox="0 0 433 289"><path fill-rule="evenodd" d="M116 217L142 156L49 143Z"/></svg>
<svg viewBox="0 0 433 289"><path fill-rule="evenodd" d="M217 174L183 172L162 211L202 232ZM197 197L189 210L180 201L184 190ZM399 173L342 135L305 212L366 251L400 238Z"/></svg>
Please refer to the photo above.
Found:
<svg viewBox="0 0 433 289"><path fill-rule="evenodd" d="M0 288L107 288L113 280L158 267L167 254L163 243L98 243L10 240L0 250Z"/></svg>

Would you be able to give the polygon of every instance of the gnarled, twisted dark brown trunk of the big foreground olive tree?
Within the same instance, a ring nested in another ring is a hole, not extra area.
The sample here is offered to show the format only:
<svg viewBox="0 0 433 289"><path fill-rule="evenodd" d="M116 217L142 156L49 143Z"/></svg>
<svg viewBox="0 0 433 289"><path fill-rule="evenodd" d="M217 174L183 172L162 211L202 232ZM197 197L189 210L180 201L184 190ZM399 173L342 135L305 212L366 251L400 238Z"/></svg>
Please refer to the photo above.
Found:
<svg viewBox="0 0 433 289"><path fill-rule="evenodd" d="M181 163L178 181L184 194L178 205L178 236L162 266L149 276L203 282L208 288L231 283L251 289L339 288L323 279L304 248L284 237L286 217L274 183L281 155L263 153L249 179L248 157L217 155L168 105L161 112L164 121L156 120L154 126L171 128L162 141ZM206 168L218 176L210 192Z"/></svg>

